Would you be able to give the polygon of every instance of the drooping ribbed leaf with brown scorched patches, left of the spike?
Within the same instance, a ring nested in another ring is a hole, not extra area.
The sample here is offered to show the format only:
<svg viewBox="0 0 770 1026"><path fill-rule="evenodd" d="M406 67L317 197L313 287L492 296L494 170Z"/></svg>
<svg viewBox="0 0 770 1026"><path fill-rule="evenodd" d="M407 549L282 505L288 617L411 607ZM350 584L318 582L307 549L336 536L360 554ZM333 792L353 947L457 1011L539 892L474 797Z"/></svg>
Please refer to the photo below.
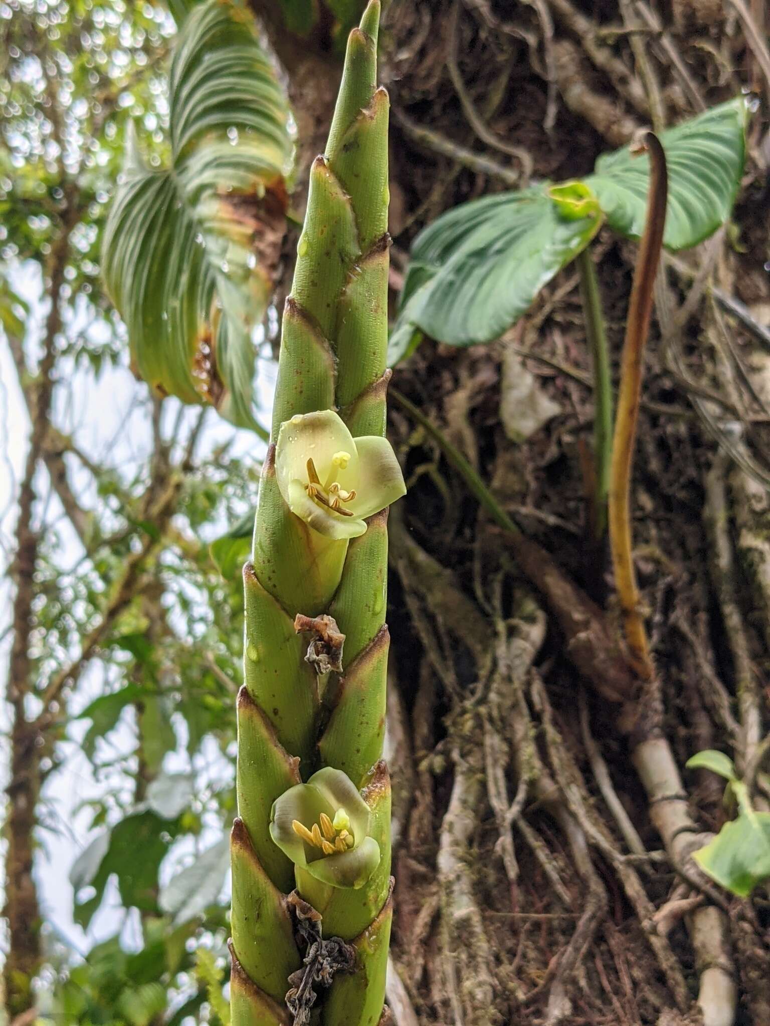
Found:
<svg viewBox="0 0 770 1026"><path fill-rule="evenodd" d="M252 336L272 293L292 143L273 67L232 0L185 17L169 108L169 167L145 166L129 140L105 279L152 388L257 429Z"/></svg>

